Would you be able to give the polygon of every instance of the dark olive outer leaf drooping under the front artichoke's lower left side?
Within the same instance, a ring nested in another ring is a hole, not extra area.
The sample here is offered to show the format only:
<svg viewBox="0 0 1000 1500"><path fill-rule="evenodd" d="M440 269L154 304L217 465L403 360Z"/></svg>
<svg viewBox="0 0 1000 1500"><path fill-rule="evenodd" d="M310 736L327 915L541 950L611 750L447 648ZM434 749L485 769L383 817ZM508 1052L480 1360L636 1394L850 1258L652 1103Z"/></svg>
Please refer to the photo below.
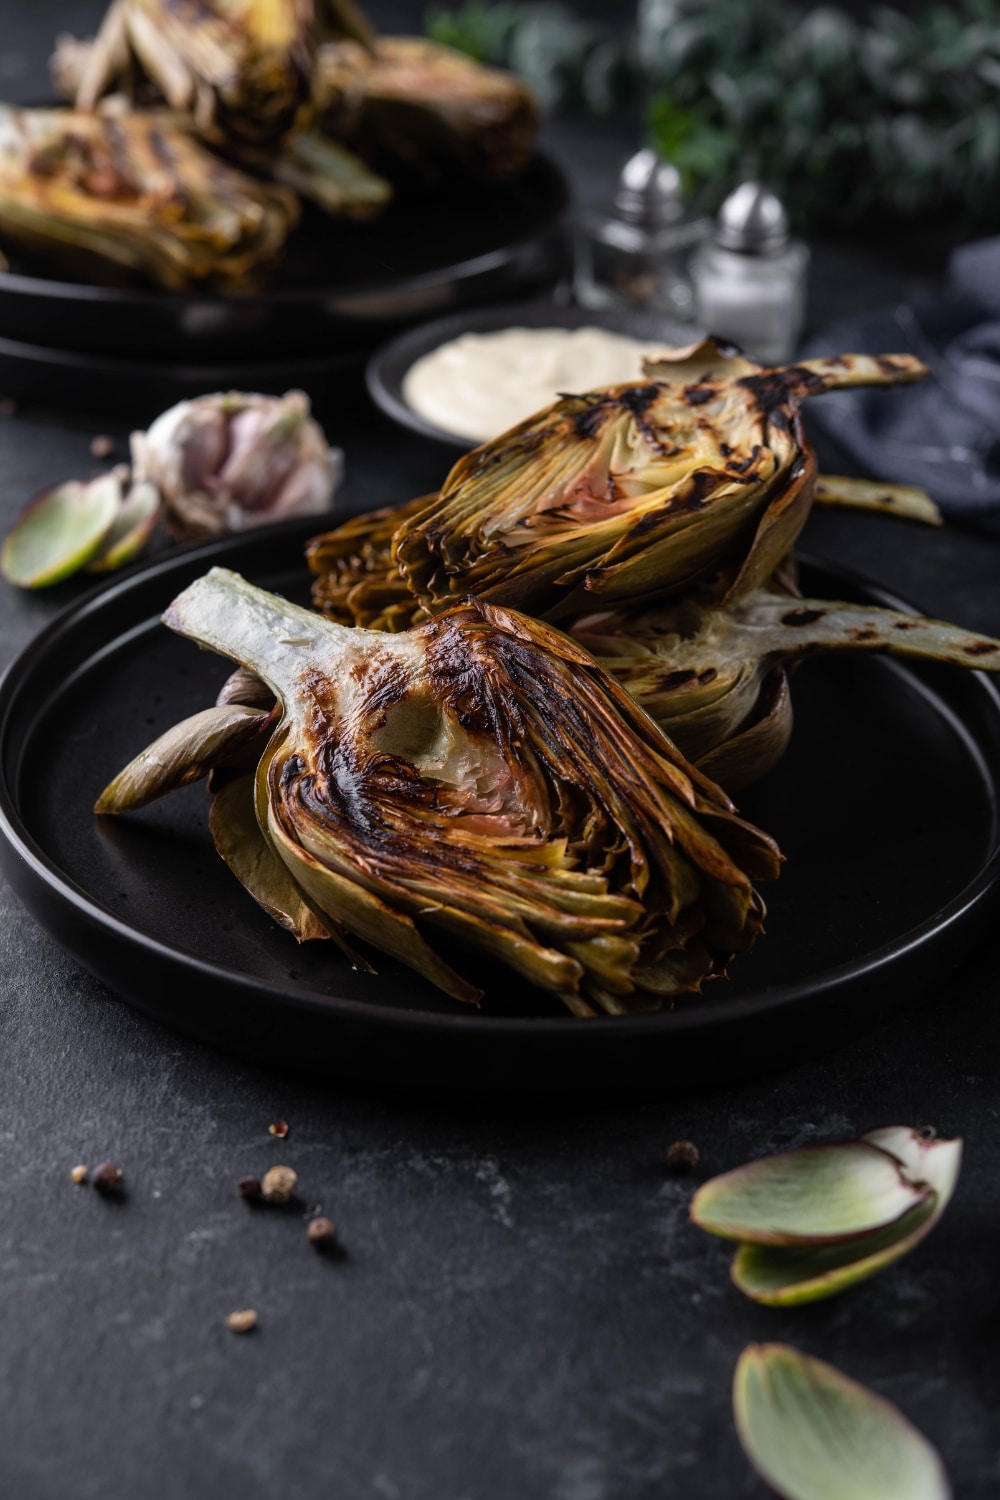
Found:
<svg viewBox="0 0 1000 1500"><path fill-rule="evenodd" d="M330 936L261 831L252 772L234 777L213 795L208 828L220 858L268 916L298 942Z"/></svg>

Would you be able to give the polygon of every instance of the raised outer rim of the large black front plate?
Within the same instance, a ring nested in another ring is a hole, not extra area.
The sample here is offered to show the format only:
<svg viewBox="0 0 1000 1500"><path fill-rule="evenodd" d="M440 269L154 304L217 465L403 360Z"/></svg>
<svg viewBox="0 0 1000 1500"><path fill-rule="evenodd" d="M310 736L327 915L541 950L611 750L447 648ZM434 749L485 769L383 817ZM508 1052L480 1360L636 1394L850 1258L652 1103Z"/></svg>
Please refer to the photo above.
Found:
<svg viewBox="0 0 1000 1500"><path fill-rule="evenodd" d="M238 546L240 540L267 544L268 538L274 543L291 543L292 538L304 542L315 531L316 518L297 518L276 525L258 526L253 531L244 532L243 538L237 538L235 544ZM445 1030L475 1038L490 1035L513 1038L519 1032L526 1036L573 1035L583 1038L592 1035L594 1038L609 1038L664 1036L670 1034L709 1030L712 1028L724 1028L727 1023L738 1020L763 1020L763 1017L772 1017L775 1012L795 1006L805 999L819 998L831 990L837 990L846 981L861 981L877 975L898 960L913 954L913 951L921 948L925 942L928 942L928 939L954 927L955 922L961 921L976 906L979 906L1000 880L1000 826L997 826L997 819L994 818L993 849L984 860L982 867L976 872L976 874L967 880L949 902L939 908L937 912L924 918L924 921L918 922L915 927L907 928L894 940L882 944L844 964L825 969L808 981L769 986L753 994L733 996L730 999L723 998L720 1000L711 1000L709 988L709 994L706 996L708 1004L699 1004L699 998L693 998L690 1004L682 1004L669 1011L621 1017L601 1016L598 1017L598 1023L595 1026L580 1026L579 1022L576 1022L568 1012L567 1016L511 1017L495 1016L469 1006L466 1011L456 1011L451 1014L447 1011L405 1010L394 1005L373 1005L367 1000L354 1000L343 996L321 996L297 986L277 986L271 981L244 974L243 970L213 964L196 957L195 954L184 952L181 948L160 942L159 939L144 933L141 928L133 927L115 916L103 908L96 897L90 896L82 886L70 879L60 868L60 866L39 848L30 828L21 816L18 798L15 796L13 788L7 780L7 740L12 732L10 723L16 714L18 700L25 680L30 676L37 660L46 657L46 654L58 642L60 636L63 636L67 630L72 630L78 621L99 614L112 602L120 602L123 597L133 592L141 598L142 591L151 582L162 580L174 572L183 573L190 570L190 567L199 568L202 562L207 567L211 566L211 562L214 562L219 556L228 556L229 562L235 562L235 566L238 566L238 558L232 558L232 552L234 538L220 537L207 543L189 543L186 546L172 548L154 560L141 561L117 578L102 582L81 597L69 602L64 609L48 621L46 626L36 636L33 636L7 664L6 670L0 676L0 850L3 852L0 864L7 867L7 876L10 878L10 884L15 890L16 879L10 876L12 858L27 867L34 880L40 882L57 903L69 904L76 915L85 918L97 928L105 930L108 936L115 938L129 946L138 948L138 951L144 956L159 957L166 960L169 964L196 972L207 981L223 982L225 986L235 984L237 988L246 990L256 999L271 1004L276 1014L279 1014L283 1006L291 1006L295 1011L327 1020L330 1024L336 1024L339 1022L364 1022L364 1024L375 1028L402 1028L403 1030L414 1030L420 1034ZM807 567L817 567L837 573L837 576L850 586L865 591L876 603L885 604L886 608L913 612L913 606L907 600L900 598L889 590L885 590L880 584L850 567L843 567L840 562L811 552L799 552L798 556ZM147 622L148 616L139 628L145 628ZM136 624L132 626L132 630L135 628ZM121 639L121 636L115 636L114 640L106 642L103 650L109 650L118 639ZM997 722L1000 723L1000 687L985 672L976 670L966 675L976 680L979 690L985 694L993 714L997 716ZM40 926L46 924L40 922ZM109 981L105 982L108 982L109 988L114 988ZM139 1002L130 996L126 994L126 999L136 1008L142 1008ZM165 1018L159 1010L154 1010L154 1014Z"/></svg>

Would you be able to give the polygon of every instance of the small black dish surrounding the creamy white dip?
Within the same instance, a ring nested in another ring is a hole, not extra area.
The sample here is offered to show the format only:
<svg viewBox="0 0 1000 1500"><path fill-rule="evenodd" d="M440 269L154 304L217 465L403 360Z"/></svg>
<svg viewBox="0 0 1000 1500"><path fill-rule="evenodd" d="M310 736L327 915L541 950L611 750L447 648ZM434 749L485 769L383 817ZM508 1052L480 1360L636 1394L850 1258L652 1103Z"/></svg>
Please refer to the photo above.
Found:
<svg viewBox="0 0 1000 1500"><path fill-rule="evenodd" d="M612 333L627 333L633 339L663 340L664 345L682 348L691 342L693 332L676 318L666 314L639 312L630 308L615 308L609 312L589 308L556 308L552 302L522 302L502 308L472 308L468 312L435 318L421 322L390 339L372 354L366 366L367 388L372 399L387 417L423 438L451 448L453 453L468 453L472 442L445 432L433 422L426 422L403 398L406 372L424 354L430 354L448 339L460 333L495 333L498 328L610 328Z"/></svg>

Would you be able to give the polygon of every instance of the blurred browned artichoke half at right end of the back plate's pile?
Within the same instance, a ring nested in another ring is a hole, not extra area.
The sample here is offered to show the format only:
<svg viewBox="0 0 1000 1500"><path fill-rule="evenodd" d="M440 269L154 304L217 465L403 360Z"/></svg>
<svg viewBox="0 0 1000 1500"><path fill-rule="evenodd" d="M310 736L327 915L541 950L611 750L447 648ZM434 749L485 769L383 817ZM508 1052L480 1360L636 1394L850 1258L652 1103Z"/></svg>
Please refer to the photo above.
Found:
<svg viewBox="0 0 1000 1500"><path fill-rule="evenodd" d="M330 42L319 66L327 132L391 180L495 180L531 160L538 110L513 74L417 36Z"/></svg>

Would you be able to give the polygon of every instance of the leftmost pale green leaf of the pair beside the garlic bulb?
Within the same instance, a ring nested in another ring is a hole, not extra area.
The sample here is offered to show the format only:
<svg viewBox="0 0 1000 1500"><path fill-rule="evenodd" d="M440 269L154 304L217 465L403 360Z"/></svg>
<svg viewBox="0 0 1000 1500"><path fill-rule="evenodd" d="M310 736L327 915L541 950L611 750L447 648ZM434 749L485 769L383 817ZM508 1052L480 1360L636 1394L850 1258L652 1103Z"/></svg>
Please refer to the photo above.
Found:
<svg viewBox="0 0 1000 1500"><path fill-rule="evenodd" d="M3 543L3 576L18 588L61 584L100 552L120 512L121 483L114 472L43 490Z"/></svg>

